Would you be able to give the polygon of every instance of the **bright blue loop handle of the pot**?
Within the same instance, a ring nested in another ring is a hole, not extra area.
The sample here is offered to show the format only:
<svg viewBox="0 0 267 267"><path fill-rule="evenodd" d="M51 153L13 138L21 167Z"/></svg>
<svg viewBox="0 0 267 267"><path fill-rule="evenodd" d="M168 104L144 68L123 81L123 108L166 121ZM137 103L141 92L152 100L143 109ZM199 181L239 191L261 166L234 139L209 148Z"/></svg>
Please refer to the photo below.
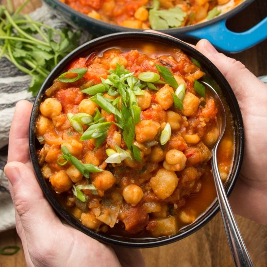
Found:
<svg viewBox="0 0 267 267"><path fill-rule="evenodd" d="M267 38L267 17L243 33L234 33L227 29L226 19L223 19L210 26L187 32L185 36L208 39L220 50L237 53Z"/></svg>

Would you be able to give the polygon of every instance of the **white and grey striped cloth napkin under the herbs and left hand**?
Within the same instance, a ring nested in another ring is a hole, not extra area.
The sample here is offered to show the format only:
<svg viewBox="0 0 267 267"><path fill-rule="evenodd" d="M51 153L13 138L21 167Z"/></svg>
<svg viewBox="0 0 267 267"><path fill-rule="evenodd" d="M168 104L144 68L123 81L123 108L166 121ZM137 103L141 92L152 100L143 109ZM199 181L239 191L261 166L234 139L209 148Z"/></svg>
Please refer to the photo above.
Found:
<svg viewBox="0 0 267 267"><path fill-rule="evenodd" d="M43 22L55 29L77 27L69 25L64 18L55 15L51 9L42 5L30 14L33 20ZM89 41L91 36L83 33L80 44ZM6 58L0 59L0 232L15 227L15 210L8 191L8 182L3 173L7 160L8 135L15 105L18 100L34 101L32 94L27 92L31 77L19 71Z"/></svg>

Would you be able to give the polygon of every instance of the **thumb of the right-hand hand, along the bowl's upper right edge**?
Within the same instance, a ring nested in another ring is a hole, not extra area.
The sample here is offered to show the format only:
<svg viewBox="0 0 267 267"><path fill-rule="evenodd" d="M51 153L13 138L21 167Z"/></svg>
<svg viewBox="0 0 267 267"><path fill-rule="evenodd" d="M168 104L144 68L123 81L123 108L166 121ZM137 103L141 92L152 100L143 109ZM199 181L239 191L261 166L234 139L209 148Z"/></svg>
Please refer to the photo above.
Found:
<svg viewBox="0 0 267 267"><path fill-rule="evenodd" d="M230 83L234 94L239 102L241 110L245 110L253 102L259 104L259 99L253 90L257 93L265 93L266 87L257 77L255 77L241 62L233 58L219 53L208 40L202 39L196 49L206 56L224 75L228 83ZM254 98L254 99L253 99ZM252 101L252 102L251 102Z"/></svg>

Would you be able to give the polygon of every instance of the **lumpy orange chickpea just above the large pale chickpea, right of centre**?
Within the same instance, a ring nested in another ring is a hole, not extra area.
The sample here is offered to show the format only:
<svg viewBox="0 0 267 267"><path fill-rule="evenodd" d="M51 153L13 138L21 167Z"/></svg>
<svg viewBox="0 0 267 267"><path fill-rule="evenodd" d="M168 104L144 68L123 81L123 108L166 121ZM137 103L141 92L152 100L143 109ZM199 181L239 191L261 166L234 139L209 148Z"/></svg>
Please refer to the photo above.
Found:
<svg viewBox="0 0 267 267"><path fill-rule="evenodd" d="M184 169L186 160L186 156L182 151L172 149L167 152L163 167L167 170L180 171Z"/></svg>

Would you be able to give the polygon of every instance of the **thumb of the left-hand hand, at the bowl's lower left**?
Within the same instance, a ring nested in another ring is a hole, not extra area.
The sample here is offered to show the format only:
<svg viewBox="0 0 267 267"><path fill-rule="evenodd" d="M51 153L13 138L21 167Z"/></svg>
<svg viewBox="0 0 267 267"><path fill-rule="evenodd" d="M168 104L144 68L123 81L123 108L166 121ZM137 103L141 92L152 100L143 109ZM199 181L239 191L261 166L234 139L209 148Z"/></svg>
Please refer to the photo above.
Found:
<svg viewBox="0 0 267 267"><path fill-rule="evenodd" d="M33 170L21 162L9 162L4 172L27 240L45 238L51 221L59 221L37 183Z"/></svg>

